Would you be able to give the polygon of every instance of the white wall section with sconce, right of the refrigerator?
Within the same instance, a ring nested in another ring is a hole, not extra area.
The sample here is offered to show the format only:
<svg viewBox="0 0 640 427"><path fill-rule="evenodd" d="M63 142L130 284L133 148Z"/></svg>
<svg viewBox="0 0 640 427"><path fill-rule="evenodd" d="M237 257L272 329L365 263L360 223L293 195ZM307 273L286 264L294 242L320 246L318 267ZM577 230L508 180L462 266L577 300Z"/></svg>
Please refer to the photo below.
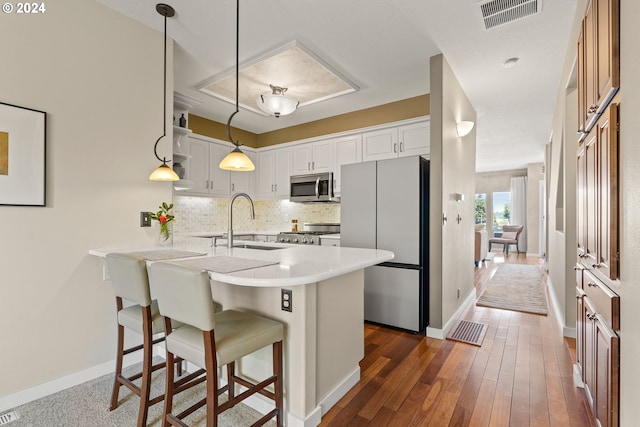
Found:
<svg viewBox="0 0 640 427"><path fill-rule="evenodd" d="M476 133L459 138L455 128L476 112L443 55L431 57L430 88L429 327L443 329L473 291Z"/></svg>

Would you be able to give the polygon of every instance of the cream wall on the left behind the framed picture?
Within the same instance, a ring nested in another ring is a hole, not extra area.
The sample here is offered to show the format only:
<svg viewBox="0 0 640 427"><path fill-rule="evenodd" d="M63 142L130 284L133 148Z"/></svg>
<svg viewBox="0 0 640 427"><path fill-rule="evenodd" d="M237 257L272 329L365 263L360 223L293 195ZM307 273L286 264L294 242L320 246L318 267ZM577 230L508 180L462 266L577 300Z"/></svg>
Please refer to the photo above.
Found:
<svg viewBox="0 0 640 427"><path fill-rule="evenodd" d="M47 112L47 206L0 206L0 399L113 359L115 302L87 252L153 241L139 212L172 197L148 180L162 34L94 1L46 6L0 26L1 100Z"/></svg>

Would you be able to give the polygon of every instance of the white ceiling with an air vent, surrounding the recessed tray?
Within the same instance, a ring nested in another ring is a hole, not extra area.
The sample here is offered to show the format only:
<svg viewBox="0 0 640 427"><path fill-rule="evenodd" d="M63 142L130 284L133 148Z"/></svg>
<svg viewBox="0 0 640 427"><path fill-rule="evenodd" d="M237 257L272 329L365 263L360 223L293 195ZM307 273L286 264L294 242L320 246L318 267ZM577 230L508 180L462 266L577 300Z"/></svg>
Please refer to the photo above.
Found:
<svg viewBox="0 0 640 427"><path fill-rule="evenodd" d="M156 1L98 1L163 31ZM542 0L541 13L485 30L478 0L242 0L241 66L296 40L360 89L280 118L241 109L233 125L263 133L429 93L429 58L443 53L478 113L476 170L542 162L576 1ZM235 107L196 86L235 66L236 2L168 3L175 90L226 123Z"/></svg>

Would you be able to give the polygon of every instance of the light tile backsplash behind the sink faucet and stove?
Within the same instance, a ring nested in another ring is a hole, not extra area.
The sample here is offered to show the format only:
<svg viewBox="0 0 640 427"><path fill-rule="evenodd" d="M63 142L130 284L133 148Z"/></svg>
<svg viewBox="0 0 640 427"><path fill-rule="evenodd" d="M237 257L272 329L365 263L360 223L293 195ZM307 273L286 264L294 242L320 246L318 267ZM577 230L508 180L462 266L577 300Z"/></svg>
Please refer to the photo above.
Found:
<svg viewBox="0 0 640 427"><path fill-rule="evenodd" d="M224 232L227 230L228 198L175 196L173 214L175 233ZM340 222L340 204L291 203L289 200L255 200L256 219L249 213L249 202L238 198L233 203L233 231L280 232L298 228L305 222Z"/></svg>

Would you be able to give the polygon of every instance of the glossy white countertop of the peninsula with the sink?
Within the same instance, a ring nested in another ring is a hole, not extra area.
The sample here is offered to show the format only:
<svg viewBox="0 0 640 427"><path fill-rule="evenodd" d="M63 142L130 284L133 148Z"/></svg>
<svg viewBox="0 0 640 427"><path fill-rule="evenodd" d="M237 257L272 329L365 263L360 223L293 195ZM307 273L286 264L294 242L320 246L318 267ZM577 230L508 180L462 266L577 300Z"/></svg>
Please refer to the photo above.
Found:
<svg viewBox="0 0 640 427"><path fill-rule="evenodd" d="M205 242L203 244L203 242ZM341 276L365 267L380 264L393 259L393 253L378 249L359 249L334 246L286 245L282 243L242 242L255 246L277 246L282 249L227 249L226 246L211 247L206 239L183 238L177 240L176 249L206 253L207 256L235 256L265 261L277 261L278 264L252 268L233 273L209 272L213 280L240 286L282 287L305 285ZM240 243L240 242L238 242ZM104 257L109 252L136 252L140 250L163 249L161 247L146 248L112 248L92 249L91 255Z"/></svg>

